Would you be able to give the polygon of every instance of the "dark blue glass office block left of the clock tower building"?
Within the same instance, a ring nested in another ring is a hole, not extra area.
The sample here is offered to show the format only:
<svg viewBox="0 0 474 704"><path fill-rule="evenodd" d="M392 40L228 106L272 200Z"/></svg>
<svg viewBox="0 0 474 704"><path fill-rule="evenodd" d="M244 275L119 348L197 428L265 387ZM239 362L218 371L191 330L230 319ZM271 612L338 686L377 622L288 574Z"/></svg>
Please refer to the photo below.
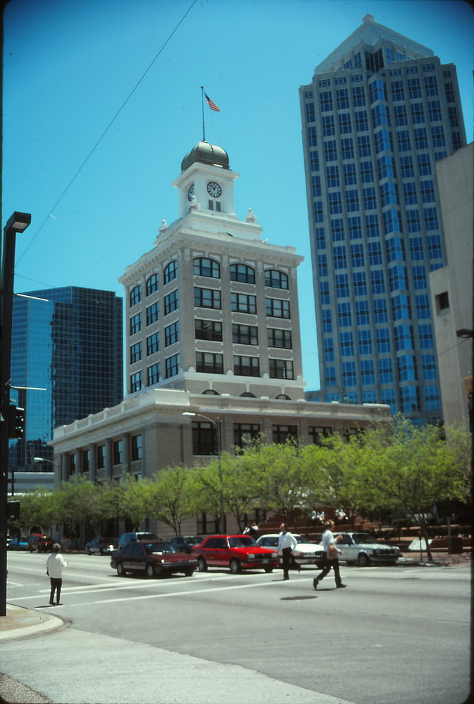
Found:
<svg viewBox="0 0 474 704"><path fill-rule="evenodd" d="M37 470L34 457L53 459L55 427L122 401L122 298L78 287L15 296L11 385L26 388L11 391L25 434L11 441L10 466Z"/></svg>

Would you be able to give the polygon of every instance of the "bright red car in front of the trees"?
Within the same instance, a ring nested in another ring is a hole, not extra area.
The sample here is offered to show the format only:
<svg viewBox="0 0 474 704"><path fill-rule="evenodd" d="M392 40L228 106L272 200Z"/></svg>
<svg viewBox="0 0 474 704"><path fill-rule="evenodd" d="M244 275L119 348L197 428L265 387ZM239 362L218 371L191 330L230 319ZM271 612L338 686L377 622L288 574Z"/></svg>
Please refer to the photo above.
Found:
<svg viewBox="0 0 474 704"><path fill-rule="evenodd" d="M264 569L271 572L278 567L278 555L261 548L248 535L212 535L191 551L198 558L199 572L207 567L229 567L233 574L242 570Z"/></svg>

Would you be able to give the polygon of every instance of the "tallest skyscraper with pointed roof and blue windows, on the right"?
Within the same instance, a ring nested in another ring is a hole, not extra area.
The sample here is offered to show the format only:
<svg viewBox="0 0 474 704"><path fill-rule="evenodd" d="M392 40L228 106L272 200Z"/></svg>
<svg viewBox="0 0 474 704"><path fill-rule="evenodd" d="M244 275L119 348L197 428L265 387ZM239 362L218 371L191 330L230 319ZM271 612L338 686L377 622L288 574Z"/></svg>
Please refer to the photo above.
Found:
<svg viewBox="0 0 474 704"><path fill-rule="evenodd" d="M435 163L466 144L456 67L371 15L300 88L320 401L441 418Z"/></svg>

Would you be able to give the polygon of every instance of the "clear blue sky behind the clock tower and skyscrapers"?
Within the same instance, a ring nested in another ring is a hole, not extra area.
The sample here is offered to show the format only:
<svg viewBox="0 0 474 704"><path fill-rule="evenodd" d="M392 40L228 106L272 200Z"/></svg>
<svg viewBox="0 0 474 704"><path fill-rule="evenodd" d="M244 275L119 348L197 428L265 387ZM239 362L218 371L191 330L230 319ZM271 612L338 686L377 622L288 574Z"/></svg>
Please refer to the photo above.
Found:
<svg viewBox="0 0 474 704"><path fill-rule="evenodd" d="M162 220L178 216L171 183L203 137L204 84L221 108L205 107L206 139L241 174L236 214L252 207L262 239L305 256L303 365L307 389L319 388L298 89L367 13L456 64L470 142L465 2L11 0L2 226L13 210L32 213L17 237L15 291L73 285L123 296L118 277L152 249Z"/></svg>

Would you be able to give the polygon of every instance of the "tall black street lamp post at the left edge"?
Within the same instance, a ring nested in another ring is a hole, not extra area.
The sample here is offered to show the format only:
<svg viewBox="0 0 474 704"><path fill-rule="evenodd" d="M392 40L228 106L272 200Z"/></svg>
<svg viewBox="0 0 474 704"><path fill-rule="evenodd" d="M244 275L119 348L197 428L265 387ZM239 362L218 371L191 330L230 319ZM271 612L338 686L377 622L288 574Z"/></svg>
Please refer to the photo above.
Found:
<svg viewBox="0 0 474 704"><path fill-rule="evenodd" d="M11 327L15 237L31 222L30 213L13 213L4 227L0 286L0 616L6 616L6 536L8 533L8 436L10 429Z"/></svg>

